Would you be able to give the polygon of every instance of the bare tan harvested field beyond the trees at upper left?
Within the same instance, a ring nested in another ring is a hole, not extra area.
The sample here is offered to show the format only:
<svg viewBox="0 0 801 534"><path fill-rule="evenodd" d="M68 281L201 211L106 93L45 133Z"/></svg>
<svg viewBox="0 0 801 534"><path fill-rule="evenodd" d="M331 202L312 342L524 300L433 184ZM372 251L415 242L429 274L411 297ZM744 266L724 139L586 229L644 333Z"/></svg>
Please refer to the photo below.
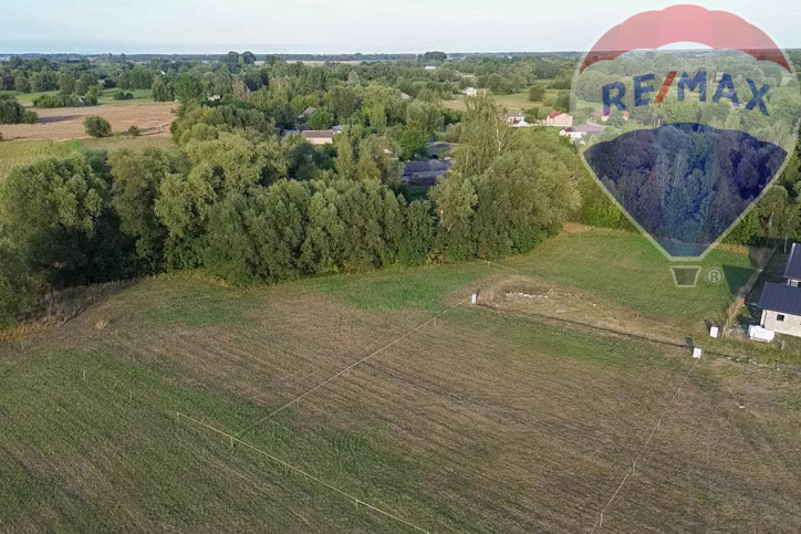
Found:
<svg viewBox="0 0 801 534"><path fill-rule="evenodd" d="M0 134L4 140L90 139L84 118L98 115L111 123L113 132L127 132L131 126L137 126L143 136L168 137L175 106L173 102L164 102L34 109L39 114L38 124L3 124Z"/></svg>

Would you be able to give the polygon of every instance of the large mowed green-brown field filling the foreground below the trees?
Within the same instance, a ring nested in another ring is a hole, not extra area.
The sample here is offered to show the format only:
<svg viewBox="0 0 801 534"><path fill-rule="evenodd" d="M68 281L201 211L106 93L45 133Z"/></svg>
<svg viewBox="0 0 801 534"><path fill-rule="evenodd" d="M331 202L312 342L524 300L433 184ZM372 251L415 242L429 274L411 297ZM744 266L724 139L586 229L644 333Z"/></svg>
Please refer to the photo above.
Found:
<svg viewBox="0 0 801 534"><path fill-rule="evenodd" d="M504 264L690 321L646 245L563 234ZM165 275L0 343L0 527L579 532L604 509L610 532L801 524L797 375L459 304L510 275ZM678 297L707 313L726 287Z"/></svg>

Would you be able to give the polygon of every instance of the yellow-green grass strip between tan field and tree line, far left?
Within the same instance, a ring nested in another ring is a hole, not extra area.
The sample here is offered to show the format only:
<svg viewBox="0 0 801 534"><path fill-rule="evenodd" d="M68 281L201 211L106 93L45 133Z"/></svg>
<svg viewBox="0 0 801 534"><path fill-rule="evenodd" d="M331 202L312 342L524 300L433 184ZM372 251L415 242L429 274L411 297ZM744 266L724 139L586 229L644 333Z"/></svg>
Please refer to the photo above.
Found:
<svg viewBox="0 0 801 534"><path fill-rule="evenodd" d="M141 150L145 147L157 146L167 148L170 139L166 137L105 137L102 139L85 140L32 140L0 143L0 180L17 165L24 165L44 157L66 157L75 151L85 150L115 150L117 148L131 148Z"/></svg>

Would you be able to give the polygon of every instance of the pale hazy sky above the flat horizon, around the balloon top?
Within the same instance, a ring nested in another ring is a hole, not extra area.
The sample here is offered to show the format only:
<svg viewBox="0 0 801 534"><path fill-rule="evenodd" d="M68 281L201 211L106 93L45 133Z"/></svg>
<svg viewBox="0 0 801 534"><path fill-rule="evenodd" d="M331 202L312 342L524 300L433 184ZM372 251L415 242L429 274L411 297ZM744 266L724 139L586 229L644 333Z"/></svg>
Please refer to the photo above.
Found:
<svg viewBox="0 0 801 534"><path fill-rule="evenodd" d="M0 0L0 53L585 51L633 0ZM801 48L801 2L697 2Z"/></svg>

